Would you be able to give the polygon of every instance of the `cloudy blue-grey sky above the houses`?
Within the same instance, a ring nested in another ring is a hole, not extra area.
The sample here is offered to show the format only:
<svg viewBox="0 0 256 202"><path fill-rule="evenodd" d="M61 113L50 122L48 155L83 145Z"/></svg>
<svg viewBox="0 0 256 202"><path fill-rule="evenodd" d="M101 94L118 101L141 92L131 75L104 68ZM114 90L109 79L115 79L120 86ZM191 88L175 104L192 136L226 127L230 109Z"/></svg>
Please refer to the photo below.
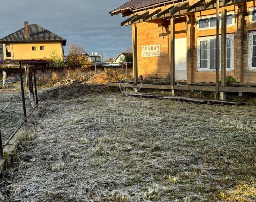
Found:
<svg viewBox="0 0 256 202"><path fill-rule="evenodd" d="M91 53L98 51L104 60L131 48L131 26L120 27L127 17L109 12L128 0L5 0L0 7L0 39L24 27L24 21L38 24L83 45Z"/></svg>

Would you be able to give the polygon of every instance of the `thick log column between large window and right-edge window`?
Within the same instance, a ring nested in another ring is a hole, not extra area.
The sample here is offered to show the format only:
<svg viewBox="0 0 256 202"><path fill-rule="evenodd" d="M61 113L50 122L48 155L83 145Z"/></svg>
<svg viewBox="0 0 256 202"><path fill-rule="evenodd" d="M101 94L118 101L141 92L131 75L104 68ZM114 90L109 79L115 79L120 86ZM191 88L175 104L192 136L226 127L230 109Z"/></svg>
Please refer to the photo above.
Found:
<svg viewBox="0 0 256 202"><path fill-rule="evenodd" d="M236 35L236 82L243 82L244 2L238 6Z"/></svg>

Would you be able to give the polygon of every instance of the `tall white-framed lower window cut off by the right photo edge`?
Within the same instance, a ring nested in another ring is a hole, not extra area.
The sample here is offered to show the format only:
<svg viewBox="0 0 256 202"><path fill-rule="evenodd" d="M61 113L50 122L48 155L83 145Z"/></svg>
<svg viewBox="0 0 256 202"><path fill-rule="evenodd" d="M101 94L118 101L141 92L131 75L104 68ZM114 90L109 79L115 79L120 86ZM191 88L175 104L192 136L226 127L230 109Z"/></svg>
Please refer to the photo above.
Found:
<svg viewBox="0 0 256 202"><path fill-rule="evenodd" d="M249 70L256 70L256 32L249 33L249 51L248 51Z"/></svg>

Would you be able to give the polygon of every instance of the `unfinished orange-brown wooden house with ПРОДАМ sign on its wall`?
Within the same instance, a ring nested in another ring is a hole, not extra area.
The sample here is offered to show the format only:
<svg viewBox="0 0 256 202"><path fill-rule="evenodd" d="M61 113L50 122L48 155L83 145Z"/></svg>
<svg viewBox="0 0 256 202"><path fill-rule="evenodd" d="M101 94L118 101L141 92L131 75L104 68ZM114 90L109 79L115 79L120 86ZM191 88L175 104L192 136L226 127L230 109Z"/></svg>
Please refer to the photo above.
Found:
<svg viewBox="0 0 256 202"><path fill-rule="evenodd" d="M131 0L110 14L130 16L135 88L140 75L169 74L142 88L256 92L255 1Z"/></svg>

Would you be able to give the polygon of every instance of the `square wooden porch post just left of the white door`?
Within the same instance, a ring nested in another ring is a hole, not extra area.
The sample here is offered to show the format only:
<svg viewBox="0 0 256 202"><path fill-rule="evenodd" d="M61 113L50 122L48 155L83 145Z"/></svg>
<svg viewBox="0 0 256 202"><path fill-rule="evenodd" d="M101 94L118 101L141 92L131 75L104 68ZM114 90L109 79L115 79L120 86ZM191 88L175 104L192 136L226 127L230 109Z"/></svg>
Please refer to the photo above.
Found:
<svg viewBox="0 0 256 202"><path fill-rule="evenodd" d="M171 89L172 89L172 96L175 95L175 90L173 86L175 85L175 19L171 19L171 37L170 37L170 78L171 78Z"/></svg>

